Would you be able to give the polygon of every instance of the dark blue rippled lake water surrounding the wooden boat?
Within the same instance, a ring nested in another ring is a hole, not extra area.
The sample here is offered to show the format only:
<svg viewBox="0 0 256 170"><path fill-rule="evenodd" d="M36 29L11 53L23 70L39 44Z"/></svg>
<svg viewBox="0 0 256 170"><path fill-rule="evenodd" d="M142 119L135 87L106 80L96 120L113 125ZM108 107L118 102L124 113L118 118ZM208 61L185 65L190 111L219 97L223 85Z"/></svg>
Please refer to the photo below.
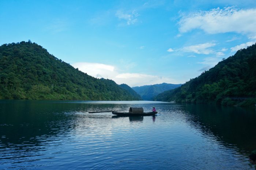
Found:
<svg viewBox="0 0 256 170"><path fill-rule="evenodd" d="M88 113L153 106L161 114ZM252 169L255 124L237 107L0 100L0 169Z"/></svg>

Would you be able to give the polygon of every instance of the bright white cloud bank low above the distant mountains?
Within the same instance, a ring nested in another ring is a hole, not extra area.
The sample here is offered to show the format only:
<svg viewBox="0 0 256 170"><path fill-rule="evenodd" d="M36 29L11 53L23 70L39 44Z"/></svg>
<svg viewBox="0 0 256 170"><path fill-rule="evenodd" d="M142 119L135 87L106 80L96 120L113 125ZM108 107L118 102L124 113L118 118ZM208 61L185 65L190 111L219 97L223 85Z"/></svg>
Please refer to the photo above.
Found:
<svg viewBox="0 0 256 170"><path fill-rule="evenodd" d="M131 87L166 83L180 83L171 78L153 76L139 73L119 73L114 66L101 63L78 62L72 64L73 67L87 73L96 78L108 78L115 81L117 84L127 84Z"/></svg>

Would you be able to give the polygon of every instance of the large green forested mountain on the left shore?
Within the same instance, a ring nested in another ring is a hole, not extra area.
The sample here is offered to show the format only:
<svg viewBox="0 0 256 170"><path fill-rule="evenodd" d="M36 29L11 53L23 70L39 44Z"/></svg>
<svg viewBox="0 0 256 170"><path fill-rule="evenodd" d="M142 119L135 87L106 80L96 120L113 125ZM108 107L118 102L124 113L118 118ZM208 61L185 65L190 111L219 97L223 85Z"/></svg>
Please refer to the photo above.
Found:
<svg viewBox="0 0 256 170"><path fill-rule="evenodd" d="M114 81L89 76L30 40L0 46L0 98L140 100Z"/></svg>

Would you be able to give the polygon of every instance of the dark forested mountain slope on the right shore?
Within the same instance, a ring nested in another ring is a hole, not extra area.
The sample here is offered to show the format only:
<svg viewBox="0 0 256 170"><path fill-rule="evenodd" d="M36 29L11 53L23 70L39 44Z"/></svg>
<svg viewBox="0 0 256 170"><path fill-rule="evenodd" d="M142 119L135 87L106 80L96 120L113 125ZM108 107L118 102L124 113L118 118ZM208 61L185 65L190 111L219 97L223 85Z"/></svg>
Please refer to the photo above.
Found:
<svg viewBox="0 0 256 170"><path fill-rule="evenodd" d="M254 105L255 96L256 45L252 45L238 50L235 55L224 59L181 87L158 94L157 100L234 105L235 97L250 97L251 99L240 105Z"/></svg>

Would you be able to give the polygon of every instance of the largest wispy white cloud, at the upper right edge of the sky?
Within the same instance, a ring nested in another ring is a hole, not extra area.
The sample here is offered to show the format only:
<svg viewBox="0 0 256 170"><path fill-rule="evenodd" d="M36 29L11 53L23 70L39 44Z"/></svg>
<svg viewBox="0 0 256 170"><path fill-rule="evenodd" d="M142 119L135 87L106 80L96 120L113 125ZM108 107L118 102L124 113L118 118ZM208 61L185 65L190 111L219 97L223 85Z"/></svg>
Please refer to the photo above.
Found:
<svg viewBox="0 0 256 170"><path fill-rule="evenodd" d="M178 23L179 31L185 33L193 29L201 29L209 34L236 32L247 34L253 38L256 35L256 9L236 9L226 7L210 11L199 11L184 15Z"/></svg>

